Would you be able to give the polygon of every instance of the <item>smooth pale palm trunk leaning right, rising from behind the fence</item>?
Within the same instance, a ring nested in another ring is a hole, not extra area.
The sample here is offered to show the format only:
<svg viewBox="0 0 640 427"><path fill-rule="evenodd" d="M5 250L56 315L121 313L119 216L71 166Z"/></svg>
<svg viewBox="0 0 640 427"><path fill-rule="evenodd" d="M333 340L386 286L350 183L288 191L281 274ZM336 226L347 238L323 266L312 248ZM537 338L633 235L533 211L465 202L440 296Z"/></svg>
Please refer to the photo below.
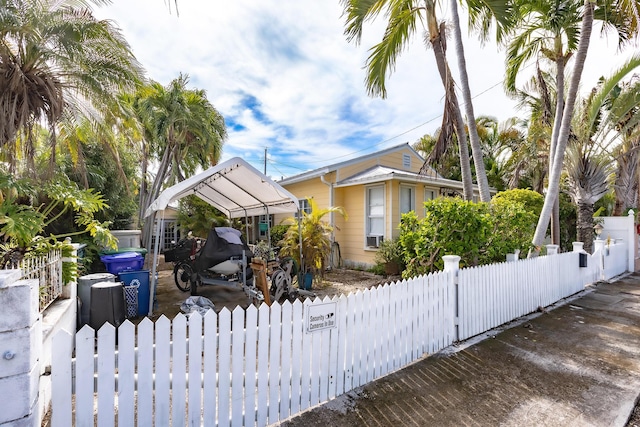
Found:
<svg viewBox="0 0 640 427"><path fill-rule="evenodd" d="M558 132L558 143L549 176L549 187L544 198L544 205L542 206L540 218L538 218L538 225L536 226L536 231L533 235L533 249L529 252L530 257L536 256L540 253L540 247L542 246L544 237L547 233L547 228L549 227L549 220L553 211L553 205L560 192L560 174L562 172L562 165L564 162L564 153L567 148L567 141L569 140L569 129L571 127L571 118L573 116L573 109L578 95L580 78L582 77L582 70L584 69L584 63L589 50L592 26L593 4L590 0L585 0L584 14L582 16L582 29L580 31L580 43L575 56L575 67L573 74L571 75L571 82L567 93L567 103L562 112L562 122Z"/></svg>

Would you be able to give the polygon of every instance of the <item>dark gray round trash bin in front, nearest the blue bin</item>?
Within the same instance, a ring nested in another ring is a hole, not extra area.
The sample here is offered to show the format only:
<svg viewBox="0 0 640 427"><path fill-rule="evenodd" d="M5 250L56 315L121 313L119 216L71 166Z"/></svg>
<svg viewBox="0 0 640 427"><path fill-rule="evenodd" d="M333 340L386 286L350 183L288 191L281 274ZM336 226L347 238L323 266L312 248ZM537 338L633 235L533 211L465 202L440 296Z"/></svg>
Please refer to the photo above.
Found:
<svg viewBox="0 0 640 427"><path fill-rule="evenodd" d="M99 282L91 286L91 320L89 325L98 330L105 324L120 326L126 318L124 288L120 282Z"/></svg>

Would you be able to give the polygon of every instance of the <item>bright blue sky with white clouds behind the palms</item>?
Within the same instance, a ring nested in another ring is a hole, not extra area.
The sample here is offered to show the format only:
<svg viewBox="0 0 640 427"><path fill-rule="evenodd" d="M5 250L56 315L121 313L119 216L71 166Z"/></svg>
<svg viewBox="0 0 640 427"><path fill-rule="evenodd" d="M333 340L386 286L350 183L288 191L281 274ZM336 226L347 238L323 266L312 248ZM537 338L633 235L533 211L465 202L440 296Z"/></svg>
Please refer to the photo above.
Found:
<svg viewBox="0 0 640 427"><path fill-rule="evenodd" d="M185 73L206 90L228 127L223 161L239 156L262 171L267 148L267 175L279 179L413 143L440 126L442 84L421 34L397 61L383 100L367 96L363 69L382 19L356 46L343 35L339 0L181 0L179 15L170 2L171 10L161 0L114 0L95 15L115 21L149 78L166 85ZM440 17L449 19L442 4ZM473 35L465 50L475 115L524 117L503 93L503 53ZM615 40L594 32L583 88L630 53L617 54ZM452 48L448 59L457 74Z"/></svg>

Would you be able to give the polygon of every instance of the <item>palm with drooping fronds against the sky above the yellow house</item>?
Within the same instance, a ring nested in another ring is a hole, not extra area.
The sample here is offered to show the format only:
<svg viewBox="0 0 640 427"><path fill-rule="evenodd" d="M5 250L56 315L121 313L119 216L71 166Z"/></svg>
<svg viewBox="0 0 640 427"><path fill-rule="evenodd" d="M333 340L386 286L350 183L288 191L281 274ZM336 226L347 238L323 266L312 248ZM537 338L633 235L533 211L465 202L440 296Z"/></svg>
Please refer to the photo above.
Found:
<svg viewBox="0 0 640 427"><path fill-rule="evenodd" d="M385 82L387 72L393 71L396 59L406 47L411 36L416 32L418 24L422 23L426 27L428 33L428 38L426 37L426 39L433 49L436 65L445 88L445 110L439 143L448 144L451 141L452 129L455 129L458 141L465 142L458 144L458 149L464 195L467 200L471 200L473 198L473 182L469 149L466 144L467 135L458 105L453 77L446 60L445 26L444 23L438 22L436 16L437 2L435 0L377 0L369 2L342 0L342 3L344 5L344 14L346 15L345 34L349 41L360 42L363 25L367 20L375 19L382 11L385 11L388 17L387 28L382 41L371 49L371 54L366 63L366 87L371 96L381 96L382 98L386 96ZM461 43L458 44L458 49L459 57L463 57ZM460 65L464 67L464 62L461 62ZM465 77L463 77L464 79ZM468 81L465 81L465 85L463 96L465 97L465 104L468 104L467 114L473 118ZM473 123L475 124L475 121ZM475 139L475 135L473 138L472 149L480 195L483 201L488 201L490 198L489 186L484 171L482 152L479 150L479 142Z"/></svg>

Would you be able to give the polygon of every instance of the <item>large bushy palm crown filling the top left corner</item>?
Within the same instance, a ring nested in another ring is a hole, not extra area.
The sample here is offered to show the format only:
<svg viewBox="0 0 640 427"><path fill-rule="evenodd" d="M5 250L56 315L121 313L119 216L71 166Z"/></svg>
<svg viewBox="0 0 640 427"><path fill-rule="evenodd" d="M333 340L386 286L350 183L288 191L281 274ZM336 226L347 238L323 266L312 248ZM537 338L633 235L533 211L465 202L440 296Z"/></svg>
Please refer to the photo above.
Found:
<svg viewBox="0 0 640 427"><path fill-rule="evenodd" d="M99 4L104 1L94 0ZM33 175L34 131L50 129L51 169L63 114L95 119L114 96L135 87L141 67L91 2L6 0L0 13L0 149L17 152ZM21 143L18 145L18 136ZM11 173L16 164L10 164Z"/></svg>

